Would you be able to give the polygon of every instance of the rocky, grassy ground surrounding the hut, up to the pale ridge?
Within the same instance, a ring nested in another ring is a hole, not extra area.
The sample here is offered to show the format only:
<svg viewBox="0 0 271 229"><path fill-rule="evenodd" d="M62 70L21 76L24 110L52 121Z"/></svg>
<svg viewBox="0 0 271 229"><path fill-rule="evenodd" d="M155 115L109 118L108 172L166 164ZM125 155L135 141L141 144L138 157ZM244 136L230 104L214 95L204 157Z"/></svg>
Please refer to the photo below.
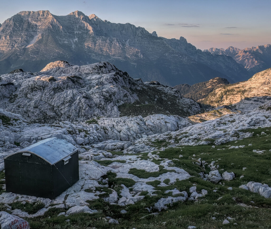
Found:
<svg viewBox="0 0 271 229"><path fill-rule="evenodd" d="M1 225L270 228L270 69L217 82L180 87L204 109L108 62L0 75ZM79 181L55 199L6 192L4 158L51 137L79 149Z"/></svg>

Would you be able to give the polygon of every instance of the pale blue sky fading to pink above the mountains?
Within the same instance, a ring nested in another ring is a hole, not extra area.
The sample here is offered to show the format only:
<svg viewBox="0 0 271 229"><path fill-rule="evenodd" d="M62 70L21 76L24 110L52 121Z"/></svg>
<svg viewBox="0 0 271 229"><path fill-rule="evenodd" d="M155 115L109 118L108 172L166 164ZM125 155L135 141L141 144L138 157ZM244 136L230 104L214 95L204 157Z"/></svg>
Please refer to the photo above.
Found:
<svg viewBox="0 0 271 229"><path fill-rule="evenodd" d="M271 43L270 0L0 0L0 23L20 11L79 10L112 23L131 23L158 36L180 36L198 49L240 49Z"/></svg>

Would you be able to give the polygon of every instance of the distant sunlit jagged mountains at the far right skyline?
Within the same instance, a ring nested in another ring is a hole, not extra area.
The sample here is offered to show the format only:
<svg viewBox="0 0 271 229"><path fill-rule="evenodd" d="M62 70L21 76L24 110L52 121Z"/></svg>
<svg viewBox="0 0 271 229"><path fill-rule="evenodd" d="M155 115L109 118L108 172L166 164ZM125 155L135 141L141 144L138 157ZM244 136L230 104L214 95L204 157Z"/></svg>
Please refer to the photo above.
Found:
<svg viewBox="0 0 271 229"><path fill-rule="evenodd" d="M243 65L251 74L263 71L271 67L271 44L259 45L257 47L238 49L228 47L227 49L210 48L205 49L212 54L231 56L237 63Z"/></svg>

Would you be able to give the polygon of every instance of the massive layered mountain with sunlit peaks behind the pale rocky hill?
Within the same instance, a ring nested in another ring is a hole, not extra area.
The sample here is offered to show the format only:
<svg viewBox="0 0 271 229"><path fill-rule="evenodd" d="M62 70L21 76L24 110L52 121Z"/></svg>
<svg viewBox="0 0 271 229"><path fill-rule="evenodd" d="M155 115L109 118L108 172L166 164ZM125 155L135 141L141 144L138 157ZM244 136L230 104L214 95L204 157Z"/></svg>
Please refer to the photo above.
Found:
<svg viewBox="0 0 271 229"><path fill-rule="evenodd" d="M132 24L115 24L75 11L22 11L0 27L0 74L14 69L37 72L63 59L73 65L108 61L143 81L173 86L214 77L230 82L250 73L233 58L202 52L184 37L166 39Z"/></svg>

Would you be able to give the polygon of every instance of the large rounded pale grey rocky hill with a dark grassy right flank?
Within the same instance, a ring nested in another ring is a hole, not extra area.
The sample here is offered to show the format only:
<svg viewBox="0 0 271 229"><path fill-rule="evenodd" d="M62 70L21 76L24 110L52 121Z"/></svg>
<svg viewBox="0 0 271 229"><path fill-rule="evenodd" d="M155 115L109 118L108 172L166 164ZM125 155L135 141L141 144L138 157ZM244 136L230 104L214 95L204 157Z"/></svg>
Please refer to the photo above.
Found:
<svg viewBox="0 0 271 229"><path fill-rule="evenodd" d="M56 61L41 72L1 75L0 100L5 110L40 123L152 113L189 116L201 111L179 91L133 79L108 62L72 66Z"/></svg>

